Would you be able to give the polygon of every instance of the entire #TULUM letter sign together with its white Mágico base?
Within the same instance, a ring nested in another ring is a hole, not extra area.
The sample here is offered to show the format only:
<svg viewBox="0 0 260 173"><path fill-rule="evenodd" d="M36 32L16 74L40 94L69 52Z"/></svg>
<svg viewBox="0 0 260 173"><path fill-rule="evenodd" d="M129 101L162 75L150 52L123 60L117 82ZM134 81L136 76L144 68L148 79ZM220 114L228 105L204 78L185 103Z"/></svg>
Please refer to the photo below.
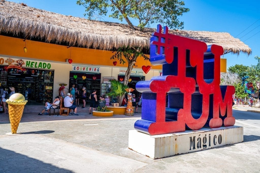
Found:
<svg viewBox="0 0 260 173"><path fill-rule="evenodd" d="M152 34L150 61L162 65L162 76L136 84L142 116L128 148L157 159L242 142L232 116L235 88L220 86L223 48L161 31L158 25Z"/></svg>

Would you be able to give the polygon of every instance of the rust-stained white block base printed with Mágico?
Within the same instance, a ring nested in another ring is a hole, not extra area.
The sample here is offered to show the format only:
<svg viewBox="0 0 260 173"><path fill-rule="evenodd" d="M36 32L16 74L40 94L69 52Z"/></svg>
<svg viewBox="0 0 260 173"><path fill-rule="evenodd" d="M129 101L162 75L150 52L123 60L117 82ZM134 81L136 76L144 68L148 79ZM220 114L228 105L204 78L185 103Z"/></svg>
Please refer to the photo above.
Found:
<svg viewBox="0 0 260 173"><path fill-rule="evenodd" d="M243 142L243 127L202 128L163 135L129 130L128 148L158 159Z"/></svg>

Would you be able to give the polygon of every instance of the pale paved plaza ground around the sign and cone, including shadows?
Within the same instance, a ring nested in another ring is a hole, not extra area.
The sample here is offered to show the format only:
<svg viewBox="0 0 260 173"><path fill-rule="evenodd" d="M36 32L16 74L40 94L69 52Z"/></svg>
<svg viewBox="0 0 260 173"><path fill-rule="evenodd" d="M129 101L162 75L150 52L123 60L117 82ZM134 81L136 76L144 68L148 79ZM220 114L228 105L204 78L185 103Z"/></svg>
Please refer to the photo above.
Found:
<svg viewBox="0 0 260 173"><path fill-rule="evenodd" d="M260 172L260 109L233 107L244 142L153 160L128 149L128 130L141 117L37 115L42 105L26 105L18 132L0 114L0 172ZM255 112L249 112L249 111ZM259 112L259 113L258 113Z"/></svg>

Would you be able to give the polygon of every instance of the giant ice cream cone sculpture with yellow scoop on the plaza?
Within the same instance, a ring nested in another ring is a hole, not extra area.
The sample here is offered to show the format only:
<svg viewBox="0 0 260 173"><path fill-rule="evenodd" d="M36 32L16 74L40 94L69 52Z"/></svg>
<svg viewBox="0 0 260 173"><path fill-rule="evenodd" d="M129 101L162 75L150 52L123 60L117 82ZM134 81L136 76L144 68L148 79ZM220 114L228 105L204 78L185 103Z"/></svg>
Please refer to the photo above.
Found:
<svg viewBox="0 0 260 173"><path fill-rule="evenodd" d="M27 103L24 96L20 93L15 93L6 100L9 109L9 119L11 123L11 134L16 134L19 123L23 115L24 105Z"/></svg>

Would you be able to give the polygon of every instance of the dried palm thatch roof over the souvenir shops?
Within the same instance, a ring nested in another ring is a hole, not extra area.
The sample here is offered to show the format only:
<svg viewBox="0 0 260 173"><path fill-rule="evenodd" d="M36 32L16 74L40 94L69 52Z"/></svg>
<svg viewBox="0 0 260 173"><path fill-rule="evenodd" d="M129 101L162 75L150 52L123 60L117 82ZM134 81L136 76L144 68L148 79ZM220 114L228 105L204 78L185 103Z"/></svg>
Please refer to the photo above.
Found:
<svg viewBox="0 0 260 173"><path fill-rule="evenodd" d="M4 0L0 0L0 24L0 34L23 34L44 39L47 43L54 41L56 44L67 43L71 46L101 50L113 50L122 46L149 49L151 33L156 31L154 28L145 28L144 32L140 32L130 29L126 24L65 16ZM225 53L243 52L250 55L252 52L248 45L226 32L169 32L204 41L207 45L220 45Z"/></svg>

